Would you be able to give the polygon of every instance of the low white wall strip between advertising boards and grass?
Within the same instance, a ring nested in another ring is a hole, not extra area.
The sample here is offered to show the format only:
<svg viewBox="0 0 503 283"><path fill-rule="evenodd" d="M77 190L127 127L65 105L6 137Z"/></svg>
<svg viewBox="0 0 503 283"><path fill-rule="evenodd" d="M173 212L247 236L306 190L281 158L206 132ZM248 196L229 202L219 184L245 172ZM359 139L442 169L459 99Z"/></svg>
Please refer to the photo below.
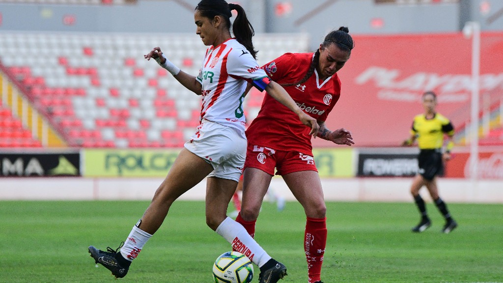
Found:
<svg viewBox="0 0 503 283"><path fill-rule="evenodd" d="M162 178L4 178L0 180L1 200L150 200ZM409 202L411 178L322 178L327 201ZM448 202L503 203L503 180L440 178L442 197ZM206 182L180 197L203 200ZM280 177L271 188L286 200L294 196ZM426 189L425 189L426 190ZM428 194L423 194L425 199Z"/></svg>

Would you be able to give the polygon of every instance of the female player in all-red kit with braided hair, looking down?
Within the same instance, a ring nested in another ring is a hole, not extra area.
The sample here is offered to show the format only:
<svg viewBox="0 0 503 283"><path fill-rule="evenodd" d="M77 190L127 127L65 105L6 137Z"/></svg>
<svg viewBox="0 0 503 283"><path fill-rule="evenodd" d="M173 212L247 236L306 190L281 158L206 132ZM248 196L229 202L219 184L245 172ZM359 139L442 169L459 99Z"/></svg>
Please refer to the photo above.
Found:
<svg viewBox="0 0 503 283"><path fill-rule="evenodd" d="M347 27L341 27L330 32L315 53L286 53L262 68L304 112L316 118L318 137L351 146L354 142L350 131L344 128L331 131L324 124L341 95L341 81L336 73L348 61L354 47L348 32ZM327 235L326 206L309 131L293 112L266 94L257 118L246 130L243 196L236 221L251 236L255 235L259 210L276 168L276 174L283 176L304 207L308 278L310 283L320 283Z"/></svg>

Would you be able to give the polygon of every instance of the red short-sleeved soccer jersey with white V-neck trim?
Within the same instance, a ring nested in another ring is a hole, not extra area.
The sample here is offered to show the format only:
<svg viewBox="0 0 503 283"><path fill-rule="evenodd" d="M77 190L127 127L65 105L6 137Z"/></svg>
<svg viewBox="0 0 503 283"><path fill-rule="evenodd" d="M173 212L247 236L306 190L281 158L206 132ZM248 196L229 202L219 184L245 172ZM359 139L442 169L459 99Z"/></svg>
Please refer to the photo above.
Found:
<svg viewBox="0 0 503 283"><path fill-rule="evenodd" d="M285 53L262 68L278 84L299 82L304 78L313 55ZM316 70L305 83L284 88L302 110L318 121L326 120L341 96L341 81L337 74L320 81ZM246 130L246 137L248 145L298 151L312 156L310 130L295 113L266 93L257 118Z"/></svg>

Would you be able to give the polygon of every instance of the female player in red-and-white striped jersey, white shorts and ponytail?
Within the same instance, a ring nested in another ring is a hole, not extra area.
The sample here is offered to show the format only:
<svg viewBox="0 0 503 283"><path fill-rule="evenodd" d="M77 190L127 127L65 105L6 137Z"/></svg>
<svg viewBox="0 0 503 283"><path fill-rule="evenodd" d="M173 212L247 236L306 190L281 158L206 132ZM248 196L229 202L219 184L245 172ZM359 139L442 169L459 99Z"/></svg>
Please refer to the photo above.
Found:
<svg viewBox="0 0 503 283"><path fill-rule="evenodd" d="M235 38L229 31L231 10L237 11L232 26ZM253 28L239 5L227 4L224 0L203 0L196 7L194 20L196 33L209 46L197 77L181 71L167 60L159 47L153 48L145 58L154 58L183 86L202 95L201 124L185 144L143 217L120 246L120 251L119 248L101 251L90 246L89 252L113 275L124 277L131 261L164 221L171 204L208 177L207 225L261 268L259 282L275 283L286 275L286 267L272 259L240 224L226 216L246 154L242 102L247 83L261 91L267 90L310 127L311 134L316 134L319 126L316 119L304 113L257 64L256 51L251 43Z"/></svg>

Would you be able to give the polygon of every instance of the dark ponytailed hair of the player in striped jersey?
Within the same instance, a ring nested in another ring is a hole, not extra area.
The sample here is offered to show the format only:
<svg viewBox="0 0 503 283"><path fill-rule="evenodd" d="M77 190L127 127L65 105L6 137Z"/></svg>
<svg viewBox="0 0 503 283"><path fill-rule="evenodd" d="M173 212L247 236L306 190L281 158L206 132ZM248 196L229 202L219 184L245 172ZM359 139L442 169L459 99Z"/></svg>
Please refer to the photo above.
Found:
<svg viewBox="0 0 503 283"><path fill-rule="evenodd" d="M232 24L232 33L236 40L248 50L255 59L257 58L257 50L251 42L251 37L255 35L253 26L251 26L244 9L237 4L227 4L224 0L202 0L196 7L203 17L213 19L215 16L221 16L227 28L230 30L230 18L232 17L231 10L237 11L236 19Z"/></svg>

